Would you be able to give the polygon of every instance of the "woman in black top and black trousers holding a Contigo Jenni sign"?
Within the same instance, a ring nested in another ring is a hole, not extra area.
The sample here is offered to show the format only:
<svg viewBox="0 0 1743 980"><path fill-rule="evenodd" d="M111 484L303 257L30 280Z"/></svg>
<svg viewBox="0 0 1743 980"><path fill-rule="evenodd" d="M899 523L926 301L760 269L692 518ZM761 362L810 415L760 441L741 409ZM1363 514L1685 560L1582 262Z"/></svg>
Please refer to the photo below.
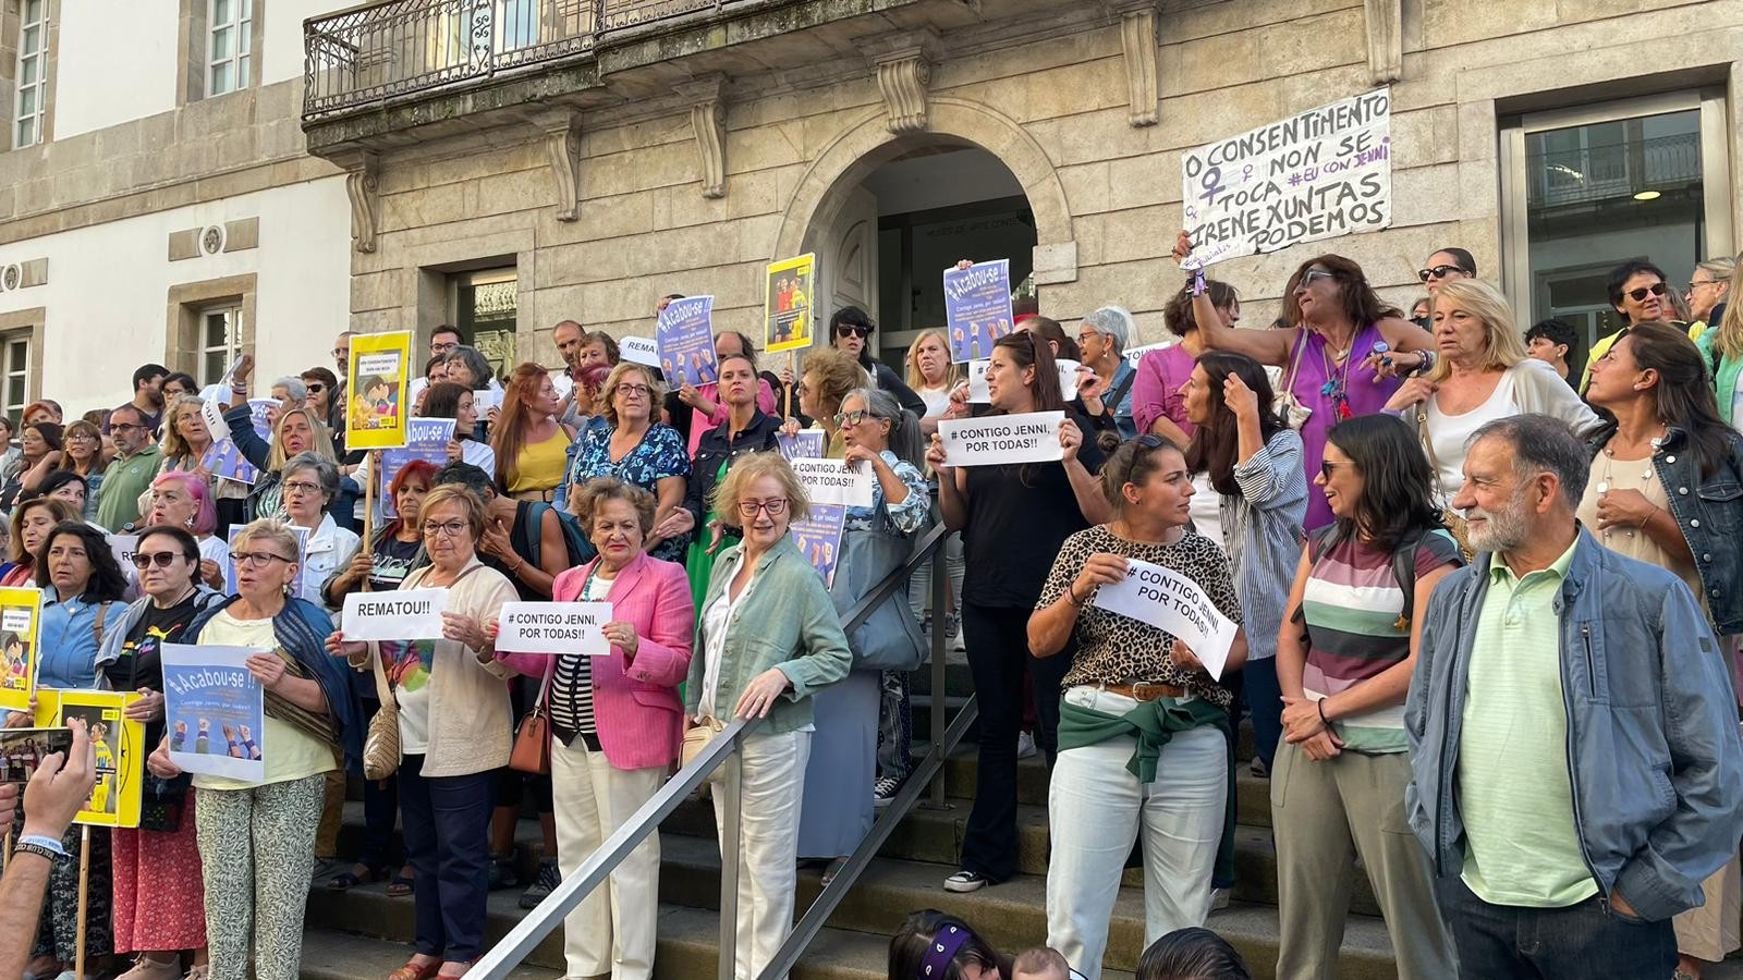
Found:
<svg viewBox="0 0 1743 980"><path fill-rule="evenodd" d="M992 415L1065 410L1058 368L1046 340L1028 331L1000 337L987 368ZM974 811L962 840L962 870L950 891L974 891L1016 872L1016 732L1023 720L1023 666L1035 687L1035 741L1055 757L1060 680L1067 656L1028 654L1028 614L1060 546L1072 534L1110 518L1096 481L1102 450L1086 441L1089 422L1067 410L1060 424L1060 462L953 467L934 434L927 462L938 471L945 523L962 528L967 572L962 581L962 635L980 701L980 764Z"/></svg>

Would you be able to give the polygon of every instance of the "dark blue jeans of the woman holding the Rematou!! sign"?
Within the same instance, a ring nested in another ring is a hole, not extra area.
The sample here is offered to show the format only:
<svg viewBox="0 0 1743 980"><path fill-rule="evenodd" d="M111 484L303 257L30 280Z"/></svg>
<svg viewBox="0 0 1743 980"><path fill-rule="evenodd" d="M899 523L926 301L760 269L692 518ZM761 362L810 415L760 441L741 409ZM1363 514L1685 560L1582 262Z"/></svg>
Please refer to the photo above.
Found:
<svg viewBox="0 0 1743 980"><path fill-rule="evenodd" d="M399 816L417 900L417 950L471 963L485 947L490 898L492 772L424 776L424 757L399 764Z"/></svg>

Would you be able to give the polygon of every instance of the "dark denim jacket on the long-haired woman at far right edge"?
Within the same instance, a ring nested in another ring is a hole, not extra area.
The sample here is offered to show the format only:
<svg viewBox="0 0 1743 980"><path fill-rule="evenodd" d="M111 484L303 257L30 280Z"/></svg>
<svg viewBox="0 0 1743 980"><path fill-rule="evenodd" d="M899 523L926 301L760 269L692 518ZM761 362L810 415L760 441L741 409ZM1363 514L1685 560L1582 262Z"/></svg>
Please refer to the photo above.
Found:
<svg viewBox="0 0 1743 980"><path fill-rule="evenodd" d="M1614 434L1616 425L1605 425L1586 443L1593 459ZM1731 452L1717 473L1703 478L1689 432L1670 425L1652 453L1652 469L1670 497L1670 516L1677 518L1694 555L1713 628L1729 636L1743 633L1743 549L1738 548L1743 539L1743 436L1729 429L1724 436Z"/></svg>

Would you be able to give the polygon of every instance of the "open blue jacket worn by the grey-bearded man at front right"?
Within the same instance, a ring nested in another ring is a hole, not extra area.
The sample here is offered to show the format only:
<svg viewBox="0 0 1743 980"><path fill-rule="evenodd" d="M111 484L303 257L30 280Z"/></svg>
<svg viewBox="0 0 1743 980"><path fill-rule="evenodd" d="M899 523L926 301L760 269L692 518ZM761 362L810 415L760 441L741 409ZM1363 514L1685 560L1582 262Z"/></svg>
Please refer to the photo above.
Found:
<svg viewBox="0 0 1743 980"><path fill-rule="evenodd" d="M1464 863L1459 738L1492 560L1480 553L1434 588L1405 703L1405 809L1441 877ZM1581 854L1605 902L1621 893L1652 922L1701 903L1701 881L1736 853L1743 821L1731 680L1679 581L1579 528L1555 600Z"/></svg>

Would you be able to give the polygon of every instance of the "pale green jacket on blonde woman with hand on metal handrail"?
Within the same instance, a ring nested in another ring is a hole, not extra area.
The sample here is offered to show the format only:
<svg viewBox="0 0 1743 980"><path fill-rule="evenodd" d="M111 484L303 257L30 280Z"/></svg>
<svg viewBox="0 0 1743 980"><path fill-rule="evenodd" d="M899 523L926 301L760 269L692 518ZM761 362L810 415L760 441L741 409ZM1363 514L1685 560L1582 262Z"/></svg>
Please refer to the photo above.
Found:
<svg viewBox="0 0 1743 980"><path fill-rule="evenodd" d="M744 546L734 544L720 553L715 574L708 581L708 609L720 598L727 584L739 574ZM739 694L756 675L779 668L791 687L769 710L763 732L783 734L812 724L810 696L847 677L854 663L835 616L835 603L823 588L823 575L793 548L791 537L783 537L756 561L756 574L739 602L743 605L727 621L727 643L722 652L720 687L715 704L722 720L730 717ZM706 619L706 616L704 616ZM697 628L695 656L690 659L690 678L685 684L683 710L695 715L702 701L702 684L708 677L706 624Z"/></svg>

